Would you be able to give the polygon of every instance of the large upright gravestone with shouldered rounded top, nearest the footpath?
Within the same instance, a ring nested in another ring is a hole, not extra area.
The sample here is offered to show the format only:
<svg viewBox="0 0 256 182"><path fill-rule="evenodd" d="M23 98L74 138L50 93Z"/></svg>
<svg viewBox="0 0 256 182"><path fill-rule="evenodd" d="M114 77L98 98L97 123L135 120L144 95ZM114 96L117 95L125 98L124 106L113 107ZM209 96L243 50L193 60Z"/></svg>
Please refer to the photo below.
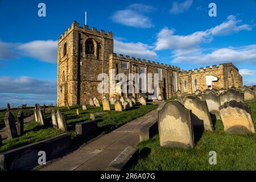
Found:
<svg viewBox="0 0 256 182"><path fill-rule="evenodd" d="M160 146L194 147L191 111L178 101L169 101L158 110Z"/></svg>

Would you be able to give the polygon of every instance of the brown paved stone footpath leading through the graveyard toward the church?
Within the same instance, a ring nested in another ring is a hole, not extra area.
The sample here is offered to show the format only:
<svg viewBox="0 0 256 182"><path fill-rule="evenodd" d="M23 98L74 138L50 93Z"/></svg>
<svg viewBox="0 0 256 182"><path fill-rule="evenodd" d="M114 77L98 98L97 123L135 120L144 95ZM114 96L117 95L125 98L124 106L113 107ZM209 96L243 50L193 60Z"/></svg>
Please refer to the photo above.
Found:
<svg viewBox="0 0 256 182"><path fill-rule="evenodd" d="M162 107L164 102L156 102ZM62 158L49 161L34 170L43 171L98 171L104 170L128 146L137 146L139 130L148 122L157 121L157 109L150 111L118 129L83 144Z"/></svg>

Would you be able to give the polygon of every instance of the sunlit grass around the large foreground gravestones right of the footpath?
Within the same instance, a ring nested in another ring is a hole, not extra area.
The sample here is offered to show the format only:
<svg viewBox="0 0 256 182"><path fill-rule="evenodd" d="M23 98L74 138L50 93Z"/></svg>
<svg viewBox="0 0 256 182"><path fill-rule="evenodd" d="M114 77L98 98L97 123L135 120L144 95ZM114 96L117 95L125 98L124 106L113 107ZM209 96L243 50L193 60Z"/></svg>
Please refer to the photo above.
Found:
<svg viewBox="0 0 256 182"><path fill-rule="evenodd" d="M256 102L251 106L256 128ZM195 136L196 146L192 150L159 146L159 135L138 145L137 164L131 170L256 170L256 134L225 134L224 126L217 120L215 132L204 131ZM209 151L216 151L217 164L210 165Z"/></svg>

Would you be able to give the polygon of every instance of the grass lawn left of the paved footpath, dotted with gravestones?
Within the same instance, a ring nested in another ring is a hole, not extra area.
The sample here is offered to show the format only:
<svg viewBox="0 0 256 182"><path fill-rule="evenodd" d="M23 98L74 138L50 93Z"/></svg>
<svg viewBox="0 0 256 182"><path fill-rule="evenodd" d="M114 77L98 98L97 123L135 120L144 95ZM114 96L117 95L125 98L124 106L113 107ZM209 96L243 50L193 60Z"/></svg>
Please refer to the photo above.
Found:
<svg viewBox="0 0 256 182"><path fill-rule="evenodd" d="M97 133L90 138L96 137L99 134L109 133L117 127L124 125L127 122L132 121L142 115L148 113L151 110L157 108L156 105L134 105L130 110L124 110L122 112L114 111L114 105L111 105L112 111L103 111L102 107L87 106L87 110L82 110L81 106L72 106L71 110L67 107L59 107L64 112L65 121L67 123L67 129L72 136L72 143L74 145L82 143L79 135L76 134L76 123L91 121L90 113L99 113L96 116L98 121ZM57 107L52 109L57 110ZM80 115L76 114L76 109L79 109ZM24 146L26 144L39 142L47 138L54 137L63 133L63 131L54 129L51 125L51 110L46 112L45 115L47 125L41 126L35 121L31 121L24 126L24 135L14 139L3 140L3 146L0 147L0 153L11 150L16 147ZM88 139L90 139L88 138Z"/></svg>

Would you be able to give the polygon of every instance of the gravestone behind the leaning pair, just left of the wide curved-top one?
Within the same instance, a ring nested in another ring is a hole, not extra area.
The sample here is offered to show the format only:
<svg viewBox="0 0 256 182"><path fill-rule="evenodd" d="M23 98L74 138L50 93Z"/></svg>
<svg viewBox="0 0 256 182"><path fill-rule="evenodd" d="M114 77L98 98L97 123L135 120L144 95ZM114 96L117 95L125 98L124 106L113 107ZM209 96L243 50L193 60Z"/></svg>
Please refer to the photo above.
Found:
<svg viewBox="0 0 256 182"><path fill-rule="evenodd" d="M220 107L220 97L213 92L205 93L203 96L203 100L207 102L207 106L209 111L218 111L218 107Z"/></svg>

